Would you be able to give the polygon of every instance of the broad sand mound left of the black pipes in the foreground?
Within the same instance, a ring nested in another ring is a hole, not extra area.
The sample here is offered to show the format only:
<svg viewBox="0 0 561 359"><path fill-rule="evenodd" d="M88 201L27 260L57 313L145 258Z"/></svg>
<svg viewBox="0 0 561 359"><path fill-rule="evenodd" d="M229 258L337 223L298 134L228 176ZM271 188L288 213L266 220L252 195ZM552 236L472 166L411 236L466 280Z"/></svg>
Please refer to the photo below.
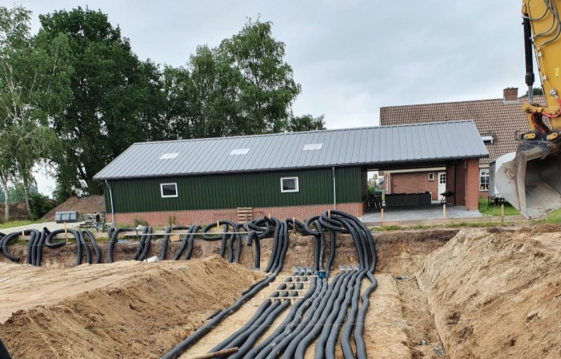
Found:
<svg viewBox="0 0 561 359"><path fill-rule="evenodd" d="M0 264L13 358L160 358L261 278L217 255L76 268Z"/></svg>

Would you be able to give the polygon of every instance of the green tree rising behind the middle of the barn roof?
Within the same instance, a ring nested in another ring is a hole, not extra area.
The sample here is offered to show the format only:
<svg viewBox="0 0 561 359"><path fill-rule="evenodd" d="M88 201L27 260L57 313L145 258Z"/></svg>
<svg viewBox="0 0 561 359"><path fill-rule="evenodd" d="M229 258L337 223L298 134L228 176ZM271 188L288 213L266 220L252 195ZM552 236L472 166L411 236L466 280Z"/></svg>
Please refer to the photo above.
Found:
<svg viewBox="0 0 561 359"><path fill-rule="evenodd" d="M302 89L284 56L271 22L249 20L217 48L199 46L185 68L165 68L170 137L323 129L323 116L292 113Z"/></svg>

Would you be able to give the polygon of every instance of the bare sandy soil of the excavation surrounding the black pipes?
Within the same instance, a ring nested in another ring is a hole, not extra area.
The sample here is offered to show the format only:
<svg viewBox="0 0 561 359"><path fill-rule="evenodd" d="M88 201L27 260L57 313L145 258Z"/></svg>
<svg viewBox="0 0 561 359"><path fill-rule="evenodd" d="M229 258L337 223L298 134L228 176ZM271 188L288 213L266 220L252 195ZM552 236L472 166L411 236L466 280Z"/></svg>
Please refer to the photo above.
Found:
<svg viewBox="0 0 561 359"><path fill-rule="evenodd" d="M369 357L561 357L560 228L382 232L373 239L378 286L363 334ZM245 328L277 286L288 276L297 278L295 267L313 267L314 237L291 232L289 243L283 271L271 285L180 358L207 353ZM168 259L179 246L168 244ZM10 247L25 262L27 247ZM196 240L191 260L147 263L122 261L133 257L137 244L119 243L118 262L73 268L76 246L67 245L45 248L43 267L0 263L0 280L7 278L0 283L0 338L13 358L161 358L262 278L250 269L255 246L244 241L240 265L220 259L219 248L219 241ZM340 265L359 260L349 234L337 234L335 248L330 282ZM107 243L100 251L106 262ZM154 240L147 257L159 253L161 241ZM262 239L262 271L271 253L273 241ZM363 279L360 295L369 285ZM290 302L271 323L259 324L264 328L255 346L283 324L295 301ZM304 358L314 357L317 340ZM339 341L335 358L343 358Z"/></svg>

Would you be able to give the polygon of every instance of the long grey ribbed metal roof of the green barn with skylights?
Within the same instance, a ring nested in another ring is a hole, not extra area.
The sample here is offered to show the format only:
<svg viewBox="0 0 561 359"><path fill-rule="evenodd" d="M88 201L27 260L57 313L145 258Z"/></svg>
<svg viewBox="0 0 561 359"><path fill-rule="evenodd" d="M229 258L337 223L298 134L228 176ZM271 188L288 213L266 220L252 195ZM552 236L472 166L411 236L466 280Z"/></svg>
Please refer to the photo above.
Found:
<svg viewBox="0 0 561 359"><path fill-rule="evenodd" d="M94 179L353 165L376 168L488 155L472 121L433 122L134 143Z"/></svg>

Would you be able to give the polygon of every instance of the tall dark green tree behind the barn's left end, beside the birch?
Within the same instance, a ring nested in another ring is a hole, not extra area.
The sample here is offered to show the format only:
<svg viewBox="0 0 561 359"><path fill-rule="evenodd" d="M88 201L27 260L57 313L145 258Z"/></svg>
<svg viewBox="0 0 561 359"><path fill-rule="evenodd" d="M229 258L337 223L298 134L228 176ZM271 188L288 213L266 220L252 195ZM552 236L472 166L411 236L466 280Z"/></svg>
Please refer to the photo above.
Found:
<svg viewBox="0 0 561 359"><path fill-rule="evenodd" d="M141 62L100 11L60 10L39 19L39 35L66 34L71 52L73 100L55 122L64 143L56 161L59 186L97 194L97 171L135 141L161 139L158 67Z"/></svg>

